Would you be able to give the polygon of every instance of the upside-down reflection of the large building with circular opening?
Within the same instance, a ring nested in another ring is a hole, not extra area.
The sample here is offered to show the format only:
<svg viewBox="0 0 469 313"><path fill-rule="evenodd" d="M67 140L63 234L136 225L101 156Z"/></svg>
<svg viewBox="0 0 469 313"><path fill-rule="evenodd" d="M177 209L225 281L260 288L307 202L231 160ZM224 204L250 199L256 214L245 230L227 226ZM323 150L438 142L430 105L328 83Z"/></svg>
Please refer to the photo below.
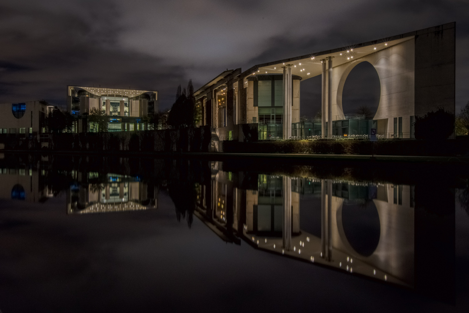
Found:
<svg viewBox="0 0 469 313"><path fill-rule="evenodd" d="M220 238L413 287L413 186L245 175L212 162L211 185L197 188L195 215ZM318 201L300 211L301 197Z"/></svg>

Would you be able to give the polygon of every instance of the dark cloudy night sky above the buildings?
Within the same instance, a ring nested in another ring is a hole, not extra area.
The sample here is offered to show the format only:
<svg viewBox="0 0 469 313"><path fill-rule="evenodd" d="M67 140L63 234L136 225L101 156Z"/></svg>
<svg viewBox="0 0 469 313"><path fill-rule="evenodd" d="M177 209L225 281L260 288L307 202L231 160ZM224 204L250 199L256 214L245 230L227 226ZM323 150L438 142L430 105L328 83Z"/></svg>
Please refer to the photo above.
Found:
<svg viewBox="0 0 469 313"><path fill-rule="evenodd" d="M227 68L454 21L456 109L469 101L464 0L2 0L0 12L0 103L62 106L66 85L77 84L158 90L167 108L189 79L198 88ZM371 76L357 69L365 87L349 88L359 91L351 102L373 101L363 94ZM317 78L302 83L302 106L310 107L302 115L315 113L319 86Z"/></svg>

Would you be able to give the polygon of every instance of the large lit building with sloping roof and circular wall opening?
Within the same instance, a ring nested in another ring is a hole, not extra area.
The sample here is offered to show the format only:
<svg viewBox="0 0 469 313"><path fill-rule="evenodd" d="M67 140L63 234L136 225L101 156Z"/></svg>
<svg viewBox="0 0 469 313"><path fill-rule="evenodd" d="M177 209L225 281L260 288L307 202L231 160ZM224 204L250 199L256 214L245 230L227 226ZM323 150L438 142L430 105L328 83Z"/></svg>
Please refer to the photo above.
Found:
<svg viewBox="0 0 469 313"><path fill-rule="evenodd" d="M226 70L195 92L212 149L223 140L370 136L413 138L416 116L443 108L454 114L455 23L356 45ZM367 61L381 86L370 121L344 115L342 91L350 71ZM300 119L300 81L322 76L319 121ZM306 125L306 123L310 125ZM241 126L250 124L249 127ZM313 126L312 129L310 126Z"/></svg>

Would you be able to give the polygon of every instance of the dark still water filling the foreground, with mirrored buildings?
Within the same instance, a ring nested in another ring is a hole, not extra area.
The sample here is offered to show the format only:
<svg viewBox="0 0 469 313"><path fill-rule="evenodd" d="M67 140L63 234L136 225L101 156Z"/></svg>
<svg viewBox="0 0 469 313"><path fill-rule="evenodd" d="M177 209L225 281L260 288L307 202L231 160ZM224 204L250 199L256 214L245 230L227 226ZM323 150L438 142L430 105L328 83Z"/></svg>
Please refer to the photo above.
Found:
<svg viewBox="0 0 469 313"><path fill-rule="evenodd" d="M467 312L469 169L0 155L0 310Z"/></svg>

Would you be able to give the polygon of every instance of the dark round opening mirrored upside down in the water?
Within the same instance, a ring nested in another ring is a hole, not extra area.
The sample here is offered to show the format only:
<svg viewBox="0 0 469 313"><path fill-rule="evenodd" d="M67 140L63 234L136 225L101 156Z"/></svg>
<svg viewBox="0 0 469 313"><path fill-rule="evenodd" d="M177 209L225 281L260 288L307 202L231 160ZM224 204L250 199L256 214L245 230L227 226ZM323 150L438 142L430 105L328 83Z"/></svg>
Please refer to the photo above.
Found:
<svg viewBox="0 0 469 313"><path fill-rule="evenodd" d="M348 243L357 253L365 257L373 254L381 236L378 210L373 200L344 201L342 228Z"/></svg>

